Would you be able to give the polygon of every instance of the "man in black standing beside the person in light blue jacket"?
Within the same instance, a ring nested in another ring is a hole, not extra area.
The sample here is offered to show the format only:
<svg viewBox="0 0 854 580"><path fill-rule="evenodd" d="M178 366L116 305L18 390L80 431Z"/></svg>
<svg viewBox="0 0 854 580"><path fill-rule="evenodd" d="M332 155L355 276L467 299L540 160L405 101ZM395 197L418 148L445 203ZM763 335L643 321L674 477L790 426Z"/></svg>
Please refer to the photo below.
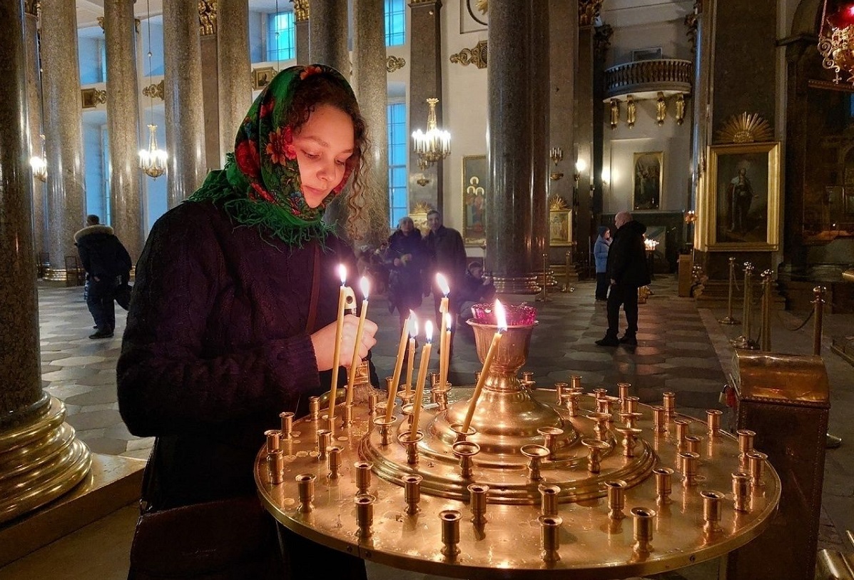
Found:
<svg viewBox="0 0 854 580"><path fill-rule="evenodd" d="M608 294L608 331L596 344L616 347L620 343L636 346L638 343L638 288L650 283L646 269L646 247L643 234L646 226L632 219L629 212L619 212L614 217L617 233L608 250L607 275L611 279ZM617 338L620 325L620 305L626 313L626 329L623 337Z"/></svg>

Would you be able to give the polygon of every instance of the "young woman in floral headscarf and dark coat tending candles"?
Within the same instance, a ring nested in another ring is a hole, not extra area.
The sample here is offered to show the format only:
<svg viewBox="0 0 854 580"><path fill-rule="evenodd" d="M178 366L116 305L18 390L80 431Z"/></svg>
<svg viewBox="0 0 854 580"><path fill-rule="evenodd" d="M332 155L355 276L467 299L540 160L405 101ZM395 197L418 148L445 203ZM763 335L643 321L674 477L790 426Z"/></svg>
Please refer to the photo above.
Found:
<svg viewBox="0 0 854 580"><path fill-rule="evenodd" d="M358 319L348 315L332 360L336 266L353 277L356 268L322 217L348 181L355 207L365 143L342 75L290 67L249 109L225 169L152 228L117 372L122 419L134 435L156 437L146 468L155 484L143 490L155 509L256 497L264 431L283 411L305 413L309 395L329 390L331 367L376 342L369 320L354 345ZM284 537L294 577L321 560L337 577L365 577L359 559Z"/></svg>

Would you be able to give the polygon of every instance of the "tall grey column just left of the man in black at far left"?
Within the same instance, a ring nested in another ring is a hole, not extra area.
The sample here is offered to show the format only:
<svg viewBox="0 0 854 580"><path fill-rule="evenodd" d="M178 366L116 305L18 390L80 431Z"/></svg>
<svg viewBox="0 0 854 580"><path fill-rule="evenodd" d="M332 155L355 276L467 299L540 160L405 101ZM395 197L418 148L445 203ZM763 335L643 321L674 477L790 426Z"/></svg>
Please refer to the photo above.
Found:
<svg viewBox="0 0 854 580"><path fill-rule="evenodd" d="M65 256L77 255L85 225L85 165L80 112L77 12L67 0L42 0L42 103L48 161L50 280L64 280Z"/></svg>

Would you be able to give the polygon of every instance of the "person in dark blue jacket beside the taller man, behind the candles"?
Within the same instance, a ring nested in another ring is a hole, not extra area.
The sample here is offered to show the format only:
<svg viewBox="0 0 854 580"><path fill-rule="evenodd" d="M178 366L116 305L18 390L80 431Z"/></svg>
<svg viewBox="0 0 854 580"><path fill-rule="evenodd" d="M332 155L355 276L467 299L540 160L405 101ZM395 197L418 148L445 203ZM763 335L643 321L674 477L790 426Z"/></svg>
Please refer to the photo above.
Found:
<svg viewBox="0 0 854 580"><path fill-rule="evenodd" d="M389 312L397 308L403 328L409 311L421 306L423 290L424 244L421 232L408 215L401 218L397 230L389 237L384 261L389 268Z"/></svg>

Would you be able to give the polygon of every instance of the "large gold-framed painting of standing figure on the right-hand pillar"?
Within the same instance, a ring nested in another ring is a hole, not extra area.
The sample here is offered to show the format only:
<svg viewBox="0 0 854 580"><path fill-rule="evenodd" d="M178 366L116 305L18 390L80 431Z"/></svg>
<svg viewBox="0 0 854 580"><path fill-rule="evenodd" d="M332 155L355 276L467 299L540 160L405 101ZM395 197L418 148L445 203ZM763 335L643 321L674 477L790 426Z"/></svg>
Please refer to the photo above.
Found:
<svg viewBox="0 0 854 580"><path fill-rule="evenodd" d="M713 145L708 159L710 249L777 249L780 144Z"/></svg>

